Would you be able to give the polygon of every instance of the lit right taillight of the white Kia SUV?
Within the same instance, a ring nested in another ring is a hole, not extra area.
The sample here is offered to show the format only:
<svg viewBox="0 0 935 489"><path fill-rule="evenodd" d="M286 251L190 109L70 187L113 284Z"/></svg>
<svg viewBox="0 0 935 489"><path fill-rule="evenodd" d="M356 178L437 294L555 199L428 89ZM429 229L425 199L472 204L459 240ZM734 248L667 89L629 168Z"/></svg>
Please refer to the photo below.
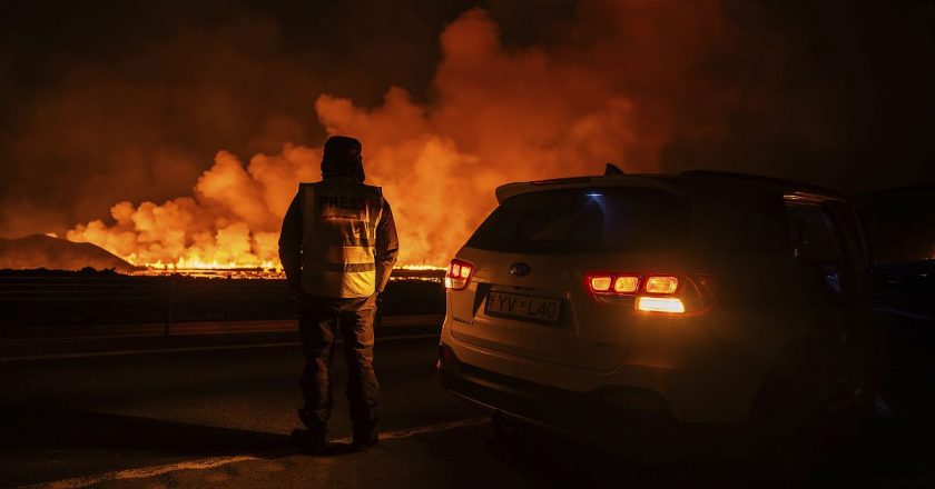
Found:
<svg viewBox="0 0 935 489"><path fill-rule="evenodd" d="M717 290L709 275L594 272L584 282L601 302L632 301L638 311L669 315L705 311Z"/></svg>

